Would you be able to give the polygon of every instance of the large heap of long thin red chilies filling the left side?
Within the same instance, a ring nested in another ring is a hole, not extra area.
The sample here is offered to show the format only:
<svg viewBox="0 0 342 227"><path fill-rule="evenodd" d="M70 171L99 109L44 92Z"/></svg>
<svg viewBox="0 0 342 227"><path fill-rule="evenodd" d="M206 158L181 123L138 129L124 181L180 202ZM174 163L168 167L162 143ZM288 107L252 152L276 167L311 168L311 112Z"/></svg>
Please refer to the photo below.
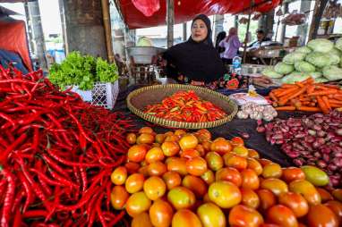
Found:
<svg viewBox="0 0 342 227"><path fill-rule="evenodd" d="M110 173L131 122L0 67L0 226L113 226Z"/></svg>

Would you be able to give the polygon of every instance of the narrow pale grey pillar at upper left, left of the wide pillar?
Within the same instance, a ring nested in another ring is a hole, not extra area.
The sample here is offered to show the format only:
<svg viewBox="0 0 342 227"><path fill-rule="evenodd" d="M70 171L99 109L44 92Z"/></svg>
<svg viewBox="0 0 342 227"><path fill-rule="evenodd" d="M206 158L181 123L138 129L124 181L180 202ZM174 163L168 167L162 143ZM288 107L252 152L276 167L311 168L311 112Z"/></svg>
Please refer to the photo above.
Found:
<svg viewBox="0 0 342 227"><path fill-rule="evenodd" d="M47 71L47 56L45 55L46 47L44 40L43 27L41 25L40 10L38 0L28 3L30 22L33 31L33 38L36 43L36 55L38 57L39 66Z"/></svg>

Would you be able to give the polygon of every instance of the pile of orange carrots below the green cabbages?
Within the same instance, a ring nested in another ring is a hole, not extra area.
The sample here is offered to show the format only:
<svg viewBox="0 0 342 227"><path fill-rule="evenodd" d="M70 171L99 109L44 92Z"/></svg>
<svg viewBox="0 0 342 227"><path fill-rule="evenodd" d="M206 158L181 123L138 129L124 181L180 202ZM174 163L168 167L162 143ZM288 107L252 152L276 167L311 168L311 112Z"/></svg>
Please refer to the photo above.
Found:
<svg viewBox="0 0 342 227"><path fill-rule="evenodd" d="M342 89L337 85L314 83L312 78L284 84L269 93L276 110L322 112L342 107Z"/></svg>

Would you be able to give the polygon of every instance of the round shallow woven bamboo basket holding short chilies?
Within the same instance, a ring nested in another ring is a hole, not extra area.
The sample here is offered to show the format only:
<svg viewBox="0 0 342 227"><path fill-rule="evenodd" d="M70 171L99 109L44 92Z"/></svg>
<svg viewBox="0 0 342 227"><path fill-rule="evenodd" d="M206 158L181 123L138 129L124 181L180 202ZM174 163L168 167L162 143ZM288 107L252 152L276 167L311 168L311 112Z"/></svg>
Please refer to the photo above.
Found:
<svg viewBox="0 0 342 227"><path fill-rule="evenodd" d="M194 90L197 96L201 97L203 100L210 101L214 105L221 107L227 113L227 117L214 122L176 122L143 113L147 105L158 104L165 97L169 97L179 90ZM127 106L133 114L140 116L148 122L170 128L192 130L213 128L229 122L234 118L238 110L235 102L227 96L208 88L182 84L153 85L136 89L128 95Z"/></svg>

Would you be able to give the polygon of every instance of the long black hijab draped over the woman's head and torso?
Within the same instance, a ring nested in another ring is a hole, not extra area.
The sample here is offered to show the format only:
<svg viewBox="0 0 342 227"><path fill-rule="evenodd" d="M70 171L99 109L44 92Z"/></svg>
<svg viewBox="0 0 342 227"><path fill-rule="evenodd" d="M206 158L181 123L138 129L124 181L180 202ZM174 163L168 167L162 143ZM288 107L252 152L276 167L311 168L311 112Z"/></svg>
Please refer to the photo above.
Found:
<svg viewBox="0 0 342 227"><path fill-rule="evenodd" d="M206 15L200 14L193 19L192 24L199 19L207 26L207 38L196 42L190 37L186 42L167 49L164 54L167 59L167 76L176 78L179 73L189 80L209 83L226 73L218 51L212 44L210 20Z"/></svg>

